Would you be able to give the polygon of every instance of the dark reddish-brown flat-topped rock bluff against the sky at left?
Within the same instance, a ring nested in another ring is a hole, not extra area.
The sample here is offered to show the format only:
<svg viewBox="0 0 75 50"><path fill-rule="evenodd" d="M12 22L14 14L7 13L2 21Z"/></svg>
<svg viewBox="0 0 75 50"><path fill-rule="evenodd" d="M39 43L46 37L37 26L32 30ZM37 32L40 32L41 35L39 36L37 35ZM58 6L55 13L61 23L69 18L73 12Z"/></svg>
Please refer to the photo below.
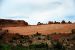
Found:
<svg viewBox="0 0 75 50"><path fill-rule="evenodd" d="M0 26L28 26L24 20L0 19Z"/></svg>

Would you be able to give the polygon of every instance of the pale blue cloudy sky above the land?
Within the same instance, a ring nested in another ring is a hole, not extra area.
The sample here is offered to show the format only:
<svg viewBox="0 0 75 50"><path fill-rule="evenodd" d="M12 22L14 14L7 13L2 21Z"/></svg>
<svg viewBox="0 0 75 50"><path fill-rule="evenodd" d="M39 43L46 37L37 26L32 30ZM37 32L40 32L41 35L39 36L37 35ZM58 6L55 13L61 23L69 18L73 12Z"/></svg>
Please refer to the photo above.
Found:
<svg viewBox="0 0 75 50"><path fill-rule="evenodd" d="M0 18L29 24L75 21L75 0L0 0Z"/></svg>

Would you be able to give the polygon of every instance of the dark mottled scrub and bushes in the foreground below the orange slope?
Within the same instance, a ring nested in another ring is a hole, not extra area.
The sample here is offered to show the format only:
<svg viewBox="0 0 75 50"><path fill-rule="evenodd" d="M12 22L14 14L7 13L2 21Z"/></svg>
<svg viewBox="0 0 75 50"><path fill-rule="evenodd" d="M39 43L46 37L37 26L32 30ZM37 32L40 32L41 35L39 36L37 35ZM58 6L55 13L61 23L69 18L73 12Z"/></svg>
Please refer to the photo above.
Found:
<svg viewBox="0 0 75 50"><path fill-rule="evenodd" d="M32 35L9 33L0 29L0 50L75 50L75 29L69 34Z"/></svg>

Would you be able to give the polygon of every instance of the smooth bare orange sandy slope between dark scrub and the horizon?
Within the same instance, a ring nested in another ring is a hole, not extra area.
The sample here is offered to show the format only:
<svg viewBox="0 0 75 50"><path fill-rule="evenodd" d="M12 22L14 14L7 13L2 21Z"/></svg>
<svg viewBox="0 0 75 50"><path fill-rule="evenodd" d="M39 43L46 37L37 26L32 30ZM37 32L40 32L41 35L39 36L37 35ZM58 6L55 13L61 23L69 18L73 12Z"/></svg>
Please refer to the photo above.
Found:
<svg viewBox="0 0 75 50"><path fill-rule="evenodd" d="M22 35L30 35L36 32L43 34L51 34L54 32L70 33L72 29L75 29L75 24L48 24L26 27L4 27L3 29L8 29L11 33L20 33Z"/></svg>

